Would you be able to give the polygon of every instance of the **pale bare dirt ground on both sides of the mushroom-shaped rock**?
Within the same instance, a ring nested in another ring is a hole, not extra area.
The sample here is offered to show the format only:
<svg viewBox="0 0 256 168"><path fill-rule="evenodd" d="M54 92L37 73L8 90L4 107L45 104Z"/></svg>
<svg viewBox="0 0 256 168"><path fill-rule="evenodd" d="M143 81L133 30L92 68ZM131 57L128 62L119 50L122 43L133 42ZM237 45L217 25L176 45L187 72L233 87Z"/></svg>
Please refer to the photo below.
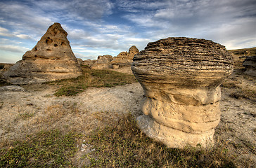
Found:
<svg viewBox="0 0 256 168"><path fill-rule="evenodd" d="M246 77L246 76L245 76ZM229 80L255 89L255 78L233 73ZM72 97L53 95L55 85L23 85L25 92L0 92L0 141L24 139L40 130L79 130L85 134L124 113L141 114L143 89L139 83L116 87L89 87ZM245 167L256 167L256 103L230 97L233 88L222 88L222 119L215 141L222 141ZM84 151L81 148L80 154ZM77 155L80 155L77 154Z"/></svg>

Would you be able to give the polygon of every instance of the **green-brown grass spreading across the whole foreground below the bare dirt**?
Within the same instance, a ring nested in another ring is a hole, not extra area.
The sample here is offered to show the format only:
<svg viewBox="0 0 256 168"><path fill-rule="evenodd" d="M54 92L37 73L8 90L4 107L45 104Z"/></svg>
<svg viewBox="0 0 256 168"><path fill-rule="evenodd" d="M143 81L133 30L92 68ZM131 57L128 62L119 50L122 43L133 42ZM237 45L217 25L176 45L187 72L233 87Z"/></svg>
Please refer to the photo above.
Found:
<svg viewBox="0 0 256 168"><path fill-rule="evenodd" d="M6 142L0 151L0 167L77 167L74 158L81 152L81 142L91 148L78 159L89 160L82 167L236 167L225 144L207 149L167 148L146 137L130 114L86 136L50 130Z"/></svg>

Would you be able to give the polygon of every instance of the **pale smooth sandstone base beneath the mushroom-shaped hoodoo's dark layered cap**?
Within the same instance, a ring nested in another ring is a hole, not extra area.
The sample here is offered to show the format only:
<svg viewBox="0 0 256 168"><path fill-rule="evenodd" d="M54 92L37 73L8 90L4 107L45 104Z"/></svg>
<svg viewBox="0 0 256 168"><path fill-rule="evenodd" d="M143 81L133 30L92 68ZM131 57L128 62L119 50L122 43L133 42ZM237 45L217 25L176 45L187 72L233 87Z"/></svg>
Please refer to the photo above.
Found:
<svg viewBox="0 0 256 168"><path fill-rule="evenodd" d="M198 144L205 147L213 143L221 114L219 87L215 90L153 90L154 96L143 100L145 115L137 118L139 127L148 137L171 148ZM165 96L158 93L165 93Z"/></svg>

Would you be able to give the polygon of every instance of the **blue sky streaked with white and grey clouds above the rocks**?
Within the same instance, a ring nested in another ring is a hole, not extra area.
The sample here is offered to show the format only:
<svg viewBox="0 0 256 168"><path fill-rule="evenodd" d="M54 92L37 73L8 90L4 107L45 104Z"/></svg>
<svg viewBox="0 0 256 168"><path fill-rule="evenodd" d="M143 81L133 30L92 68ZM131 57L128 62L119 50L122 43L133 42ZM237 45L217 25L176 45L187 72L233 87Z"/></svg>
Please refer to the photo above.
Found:
<svg viewBox="0 0 256 168"><path fill-rule="evenodd" d="M22 59L54 22L82 59L172 36L256 46L256 0L0 0L0 62Z"/></svg>

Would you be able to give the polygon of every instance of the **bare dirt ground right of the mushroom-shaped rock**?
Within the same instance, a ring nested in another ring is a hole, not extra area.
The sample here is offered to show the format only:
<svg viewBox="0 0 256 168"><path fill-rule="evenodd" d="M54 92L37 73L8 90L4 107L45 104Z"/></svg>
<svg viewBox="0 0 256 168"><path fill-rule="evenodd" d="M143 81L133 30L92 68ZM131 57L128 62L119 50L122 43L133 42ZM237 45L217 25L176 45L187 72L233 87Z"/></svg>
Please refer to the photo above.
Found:
<svg viewBox="0 0 256 168"><path fill-rule="evenodd" d="M215 138L224 141L238 160L248 162L243 167L256 167L256 78L246 76L243 70L237 69L228 80L241 87L240 90L250 90L254 99L237 99L232 94L239 90L222 87L222 116Z"/></svg>

